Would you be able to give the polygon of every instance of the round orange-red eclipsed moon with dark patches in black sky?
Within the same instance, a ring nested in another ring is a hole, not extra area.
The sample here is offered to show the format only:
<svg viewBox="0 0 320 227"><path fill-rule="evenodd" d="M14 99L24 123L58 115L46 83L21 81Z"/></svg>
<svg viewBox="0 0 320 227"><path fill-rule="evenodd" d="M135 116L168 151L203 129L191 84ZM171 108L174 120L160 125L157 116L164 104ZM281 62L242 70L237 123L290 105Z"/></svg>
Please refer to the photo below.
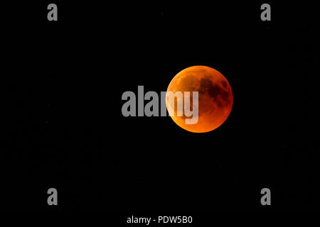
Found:
<svg viewBox="0 0 320 227"><path fill-rule="evenodd" d="M233 92L223 74L213 68L196 65L182 70L171 80L166 92L198 92L198 122L186 124L186 116L174 114L178 99L166 108L174 122L193 133L213 131L225 122L233 108ZM192 109L192 106L190 107Z"/></svg>

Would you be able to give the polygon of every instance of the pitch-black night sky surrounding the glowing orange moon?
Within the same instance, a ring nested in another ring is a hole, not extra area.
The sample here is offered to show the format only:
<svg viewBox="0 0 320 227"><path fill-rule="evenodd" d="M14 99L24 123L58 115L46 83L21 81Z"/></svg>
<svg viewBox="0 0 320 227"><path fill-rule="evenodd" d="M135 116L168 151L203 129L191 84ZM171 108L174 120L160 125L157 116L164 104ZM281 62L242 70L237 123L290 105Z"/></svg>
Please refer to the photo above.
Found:
<svg viewBox="0 0 320 227"><path fill-rule="evenodd" d="M316 209L315 6L267 1L272 21L261 21L264 1L223 2L1 3L1 209ZM123 92L166 91L192 65L230 82L223 126L198 134L169 117L122 116ZM264 187L272 206L260 204Z"/></svg>

